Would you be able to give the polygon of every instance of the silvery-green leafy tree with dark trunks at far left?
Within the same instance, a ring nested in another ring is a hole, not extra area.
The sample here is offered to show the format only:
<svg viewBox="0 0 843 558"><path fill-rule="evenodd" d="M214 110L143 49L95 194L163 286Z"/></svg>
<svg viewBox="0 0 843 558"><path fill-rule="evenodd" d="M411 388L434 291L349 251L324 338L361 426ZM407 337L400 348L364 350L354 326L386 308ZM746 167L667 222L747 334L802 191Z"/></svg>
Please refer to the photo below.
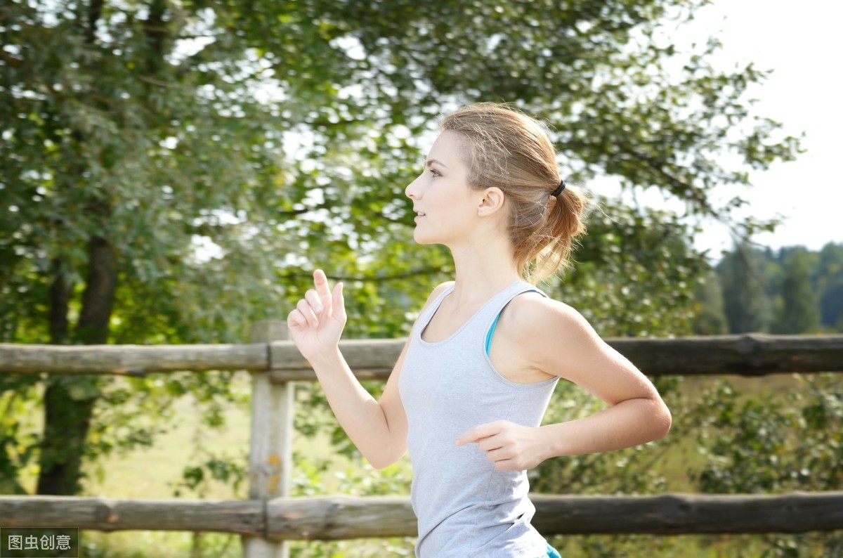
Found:
<svg viewBox="0 0 843 558"><path fill-rule="evenodd" d="M256 66L232 79L242 45L215 43L214 62L186 71L180 45L208 29L174 8L0 11L4 340L242 340L255 303L277 293L277 106L248 94ZM199 241L224 257L207 260ZM95 407L119 393L110 379L46 380L40 493L78 491Z"/></svg>

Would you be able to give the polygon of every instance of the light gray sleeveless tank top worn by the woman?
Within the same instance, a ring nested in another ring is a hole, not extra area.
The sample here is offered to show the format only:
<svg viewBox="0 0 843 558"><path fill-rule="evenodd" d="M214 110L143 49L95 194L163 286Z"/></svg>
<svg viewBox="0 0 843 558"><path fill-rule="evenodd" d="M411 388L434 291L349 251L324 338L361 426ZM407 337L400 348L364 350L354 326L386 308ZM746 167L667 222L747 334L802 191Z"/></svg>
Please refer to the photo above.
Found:
<svg viewBox="0 0 843 558"><path fill-rule="evenodd" d="M545 539L530 525L535 508L527 496L526 471L498 471L477 444L455 444L465 431L486 422L540 425L558 378L517 384L497 373L485 351L486 335L507 303L522 292L540 291L514 282L447 339L422 340L421 332L453 290L446 289L417 320L399 382L413 465L416 555L545 555Z"/></svg>

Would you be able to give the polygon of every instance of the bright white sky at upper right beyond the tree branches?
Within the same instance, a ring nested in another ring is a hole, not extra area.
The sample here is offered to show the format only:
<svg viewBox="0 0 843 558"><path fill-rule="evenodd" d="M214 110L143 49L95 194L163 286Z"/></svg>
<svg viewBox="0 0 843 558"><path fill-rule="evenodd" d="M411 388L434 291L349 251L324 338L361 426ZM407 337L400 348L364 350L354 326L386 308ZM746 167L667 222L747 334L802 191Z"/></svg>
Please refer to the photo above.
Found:
<svg viewBox="0 0 843 558"><path fill-rule="evenodd" d="M805 153L751 174L754 187L743 192L755 217L785 217L775 233L755 237L774 249L843 243L843 173L835 164L843 158L841 20L843 3L828 0L714 0L688 29L693 35L699 30L698 40L706 35L721 40L717 63L723 68L754 62L772 69L752 93L759 99L758 114L780 121L794 136L805 133ZM731 244L726 228L717 224L698 239L711 255Z"/></svg>

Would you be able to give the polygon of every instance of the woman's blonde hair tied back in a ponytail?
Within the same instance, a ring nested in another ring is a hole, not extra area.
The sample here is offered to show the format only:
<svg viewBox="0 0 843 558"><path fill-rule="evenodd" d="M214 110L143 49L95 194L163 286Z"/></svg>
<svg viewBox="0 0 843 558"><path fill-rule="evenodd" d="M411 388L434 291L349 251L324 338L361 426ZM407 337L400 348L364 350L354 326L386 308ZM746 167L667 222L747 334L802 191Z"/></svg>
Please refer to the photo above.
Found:
<svg viewBox="0 0 843 558"><path fill-rule="evenodd" d="M561 176L545 126L507 105L479 103L446 116L439 127L463 137L469 185L503 191L521 276L540 281L570 266L574 239L585 232L586 197L570 186L551 195Z"/></svg>

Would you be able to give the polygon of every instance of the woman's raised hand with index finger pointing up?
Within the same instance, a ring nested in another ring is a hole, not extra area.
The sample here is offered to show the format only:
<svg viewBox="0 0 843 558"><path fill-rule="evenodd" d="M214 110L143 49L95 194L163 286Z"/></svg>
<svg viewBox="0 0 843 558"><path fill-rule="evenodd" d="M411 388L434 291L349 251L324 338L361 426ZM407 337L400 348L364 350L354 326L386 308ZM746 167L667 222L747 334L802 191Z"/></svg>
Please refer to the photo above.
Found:
<svg viewBox="0 0 843 558"><path fill-rule="evenodd" d="M314 288L304 294L287 316L287 325L298 351L309 361L336 350L346 325L342 283L336 283L331 292L325 271L314 271Z"/></svg>

